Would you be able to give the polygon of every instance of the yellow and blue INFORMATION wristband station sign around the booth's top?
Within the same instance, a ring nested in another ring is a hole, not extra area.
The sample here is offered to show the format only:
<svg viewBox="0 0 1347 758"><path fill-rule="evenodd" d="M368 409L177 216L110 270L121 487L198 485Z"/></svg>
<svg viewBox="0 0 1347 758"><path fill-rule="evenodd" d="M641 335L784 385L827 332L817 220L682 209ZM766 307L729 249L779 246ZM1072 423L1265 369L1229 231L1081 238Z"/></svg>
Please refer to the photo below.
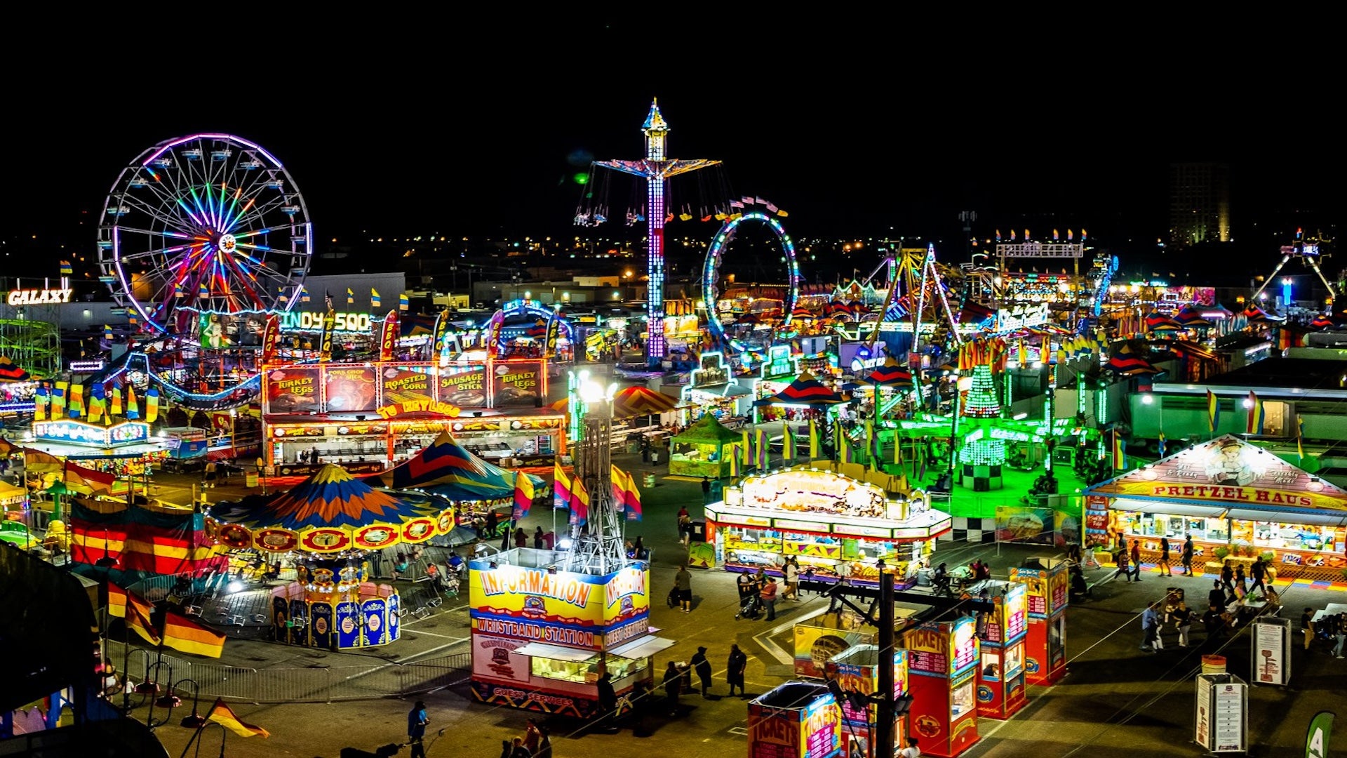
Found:
<svg viewBox="0 0 1347 758"><path fill-rule="evenodd" d="M602 650L649 631L649 573L605 576L473 561L469 615L474 634Z"/></svg>

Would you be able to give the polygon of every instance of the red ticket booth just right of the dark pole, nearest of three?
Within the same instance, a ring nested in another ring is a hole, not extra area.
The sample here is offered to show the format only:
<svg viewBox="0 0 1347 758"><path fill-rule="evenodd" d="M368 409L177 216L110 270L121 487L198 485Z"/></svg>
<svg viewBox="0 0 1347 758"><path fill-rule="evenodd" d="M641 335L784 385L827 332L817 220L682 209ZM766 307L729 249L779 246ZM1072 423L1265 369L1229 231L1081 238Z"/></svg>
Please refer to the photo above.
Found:
<svg viewBox="0 0 1347 758"><path fill-rule="evenodd" d="M908 723L923 755L952 758L978 742L977 620L927 622L898 638L908 651Z"/></svg>

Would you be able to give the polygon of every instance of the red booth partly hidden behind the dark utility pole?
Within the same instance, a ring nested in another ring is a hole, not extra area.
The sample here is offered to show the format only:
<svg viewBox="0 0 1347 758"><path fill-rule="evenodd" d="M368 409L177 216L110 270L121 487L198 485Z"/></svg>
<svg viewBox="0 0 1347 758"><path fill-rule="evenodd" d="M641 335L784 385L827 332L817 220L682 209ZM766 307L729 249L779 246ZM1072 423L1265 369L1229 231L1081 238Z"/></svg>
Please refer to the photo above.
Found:
<svg viewBox="0 0 1347 758"><path fill-rule="evenodd" d="M847 695L869 697L880 689L880 647L876 645L857 645L832 657L824 666L827 678L836 681L838 688ZM898 700L908 695L908 651L893 651L893 699ZM842 705L842 732L847 742L846 755L859 755L863 758L888 758L882 753L874 753L873 735L878 726L880 709L874 703L858 707L851 699L845 699ZM907 745L908 719L907 715L893 719L893 743Z"/></svg>

